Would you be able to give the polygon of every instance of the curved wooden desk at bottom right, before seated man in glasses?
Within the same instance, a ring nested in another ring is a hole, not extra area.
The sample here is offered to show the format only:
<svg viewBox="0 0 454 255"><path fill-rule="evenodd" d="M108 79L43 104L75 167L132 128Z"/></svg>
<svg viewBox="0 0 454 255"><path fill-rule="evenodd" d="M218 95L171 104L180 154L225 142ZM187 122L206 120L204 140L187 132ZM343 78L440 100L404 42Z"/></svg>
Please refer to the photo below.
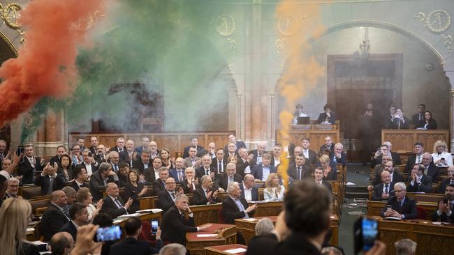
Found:
<svg viewBox="0 0 454 255"><path fill-rule="evenodd" d="M386 254L395 254L394 242L410 238L418 243L416 254L453 254L454 225L438 226L427 220L389 221L374 217L379 222L381 240L386 243Z"/></svg>

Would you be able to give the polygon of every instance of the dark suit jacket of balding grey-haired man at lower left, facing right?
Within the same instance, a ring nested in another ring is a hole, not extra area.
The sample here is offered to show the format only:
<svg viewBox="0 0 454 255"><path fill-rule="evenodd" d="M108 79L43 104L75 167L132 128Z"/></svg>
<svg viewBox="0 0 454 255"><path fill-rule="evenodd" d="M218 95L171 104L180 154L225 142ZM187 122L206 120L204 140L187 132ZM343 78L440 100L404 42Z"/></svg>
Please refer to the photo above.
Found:
<svg viewBox="0 0 454 255"><path fill-rule="evenodd" d="M63 209L50 203L47 210L43 213L39 228L44 235L44 241L50 241L52 235L59 232L60 229L69 221L69 215L66 215Z"/></svg>

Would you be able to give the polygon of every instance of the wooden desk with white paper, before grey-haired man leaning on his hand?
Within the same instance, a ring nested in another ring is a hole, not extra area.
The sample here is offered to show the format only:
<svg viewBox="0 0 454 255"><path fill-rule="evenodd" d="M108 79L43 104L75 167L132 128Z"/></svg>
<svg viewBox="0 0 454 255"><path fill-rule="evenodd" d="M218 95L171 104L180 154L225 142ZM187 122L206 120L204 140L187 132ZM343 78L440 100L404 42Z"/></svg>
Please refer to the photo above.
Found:
<svg viewBox="0 0 454 255"><path fill-rule="evenodd" d="M200 234L214 234L217 237L198 237ZM234 245L237 242L237 226L229 224L212 224L205 231L186 233L186 249L191 255L205 255L204 247L217 245Z"/></svg>

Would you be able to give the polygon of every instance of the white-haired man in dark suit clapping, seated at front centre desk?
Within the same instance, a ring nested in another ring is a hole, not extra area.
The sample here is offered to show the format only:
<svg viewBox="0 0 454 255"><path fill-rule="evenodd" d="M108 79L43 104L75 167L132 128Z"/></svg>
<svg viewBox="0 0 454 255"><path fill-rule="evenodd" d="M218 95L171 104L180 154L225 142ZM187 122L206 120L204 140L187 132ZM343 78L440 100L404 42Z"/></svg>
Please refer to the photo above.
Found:
<svg viewBox="0 0 454 255"><path fill-rule="evenodd" d="M254 216L257 205L249 206L241 197L240 184L230 183L227 187L228 196L222 201L221 213L226 224L235 224L235 219L247 219Z"/></svg>

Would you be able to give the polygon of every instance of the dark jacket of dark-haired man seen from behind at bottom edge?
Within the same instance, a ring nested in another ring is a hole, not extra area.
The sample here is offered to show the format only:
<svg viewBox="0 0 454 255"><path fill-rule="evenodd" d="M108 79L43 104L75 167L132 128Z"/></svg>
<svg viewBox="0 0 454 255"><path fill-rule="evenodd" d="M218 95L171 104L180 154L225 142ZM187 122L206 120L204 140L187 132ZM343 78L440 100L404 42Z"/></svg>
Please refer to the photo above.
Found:
<svg viewBox="0 0 454 255"><path fill-rule="evenodd" d="M149 242L143 240L137 240L131 236L126 237L121 242L117 242L110 247L110 255L127 255L133 254L138 255L149 255L157 254L163 247L161 240L156 240L156 248L152 247Z"/></svg>

